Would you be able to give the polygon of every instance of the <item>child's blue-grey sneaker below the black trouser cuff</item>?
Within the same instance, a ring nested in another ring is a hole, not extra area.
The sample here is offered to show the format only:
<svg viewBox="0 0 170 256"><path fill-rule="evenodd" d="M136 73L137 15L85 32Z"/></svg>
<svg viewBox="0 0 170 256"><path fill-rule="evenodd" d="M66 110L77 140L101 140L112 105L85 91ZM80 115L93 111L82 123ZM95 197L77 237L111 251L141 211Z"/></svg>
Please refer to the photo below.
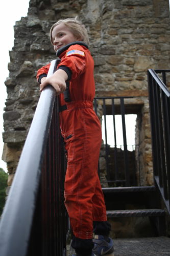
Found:
<svg viewBox="0 0 170 256"><path fill-rule="evenodd" d="M96 256L114 256L114 248L113 241L109 238L109 242L107 242L101 234L95 234L93 242L94 248L93 253Z"/></svg>

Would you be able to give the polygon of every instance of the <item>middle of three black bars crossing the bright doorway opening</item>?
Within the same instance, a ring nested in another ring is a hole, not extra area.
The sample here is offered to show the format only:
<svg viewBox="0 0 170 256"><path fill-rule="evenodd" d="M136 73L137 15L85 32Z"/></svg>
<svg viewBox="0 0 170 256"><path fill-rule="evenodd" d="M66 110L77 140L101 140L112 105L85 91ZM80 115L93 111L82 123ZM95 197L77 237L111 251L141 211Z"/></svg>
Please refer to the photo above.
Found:
<svg viewBox="0 0 170 256"><path fill-rule="evenodd" d="M118 165L117 165L117 142L116 142L116 125L115 125L115 108L114 99L112 99L112 116L113 116L113 132L114 132L114 166L115 166L115 180L118 180Z"/></svg>

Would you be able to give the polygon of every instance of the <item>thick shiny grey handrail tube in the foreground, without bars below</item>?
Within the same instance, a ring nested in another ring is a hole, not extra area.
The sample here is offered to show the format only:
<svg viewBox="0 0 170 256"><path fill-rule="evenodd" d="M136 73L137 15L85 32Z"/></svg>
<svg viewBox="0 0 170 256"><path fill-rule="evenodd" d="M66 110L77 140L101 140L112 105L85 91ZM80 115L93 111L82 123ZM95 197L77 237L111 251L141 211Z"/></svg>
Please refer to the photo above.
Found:
<svg viewBox="0 0 170 256"><path fill-rule="evenodd" d="M53 60L47 76L55 65ZM55 96L51 86L40 95L0 222L1 256L26 255Z"/></svg>

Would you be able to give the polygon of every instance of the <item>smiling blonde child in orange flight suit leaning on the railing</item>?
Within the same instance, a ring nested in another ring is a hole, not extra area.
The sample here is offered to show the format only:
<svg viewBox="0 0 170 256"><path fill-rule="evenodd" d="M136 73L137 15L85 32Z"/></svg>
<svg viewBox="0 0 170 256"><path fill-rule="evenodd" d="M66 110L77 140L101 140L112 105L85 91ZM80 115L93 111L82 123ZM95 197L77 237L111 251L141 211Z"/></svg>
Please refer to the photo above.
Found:
<svg viewBox="0 0 170 256"><path fill-rule="evenodd" d="M60 128L67 152L65 206L74 234L71 246L77 256L113 255L98 177L102 135L92 103L94 63L87 46L88 34L77 18L67 18L52 26L50 39L60 63L48 78L50 64L39 69L37 79L40 91L51 84L60 95Z"/></svg>

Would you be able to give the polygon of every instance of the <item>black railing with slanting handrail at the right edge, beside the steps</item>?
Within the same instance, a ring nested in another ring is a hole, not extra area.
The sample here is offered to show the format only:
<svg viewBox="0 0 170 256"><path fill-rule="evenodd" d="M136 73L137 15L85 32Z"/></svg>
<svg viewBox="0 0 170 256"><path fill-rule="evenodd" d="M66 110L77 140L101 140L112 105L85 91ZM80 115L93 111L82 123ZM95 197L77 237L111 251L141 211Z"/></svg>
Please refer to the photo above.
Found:
<svg viewBox="0 0 170 256"><path fill-rule="evenodd" d="M170 70L148 70L148 87L154 178L170 214L170 91L166 87L168 72ZM157 73L162 74L163 81Z"/></svg>

